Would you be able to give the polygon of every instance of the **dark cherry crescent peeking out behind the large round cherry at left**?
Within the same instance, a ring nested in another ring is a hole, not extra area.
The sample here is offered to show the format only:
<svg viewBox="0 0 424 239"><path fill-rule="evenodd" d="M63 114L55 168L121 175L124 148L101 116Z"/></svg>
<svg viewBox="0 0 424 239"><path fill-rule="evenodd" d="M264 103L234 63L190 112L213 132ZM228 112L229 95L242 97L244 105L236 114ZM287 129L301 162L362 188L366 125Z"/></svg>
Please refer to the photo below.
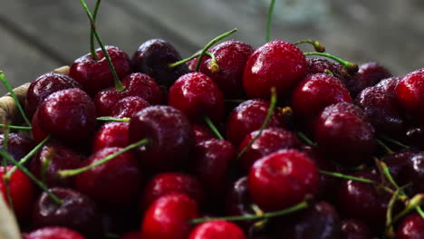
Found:
<svg viewBox="0 0 424 239"><path fill-rule="evenodd" d="M53 92L71 88L81 89L82 87L77 81L64 74L48 72L41 75L31 82L26 91L25 110L27 115L33 117L37 107Z"/></svg>

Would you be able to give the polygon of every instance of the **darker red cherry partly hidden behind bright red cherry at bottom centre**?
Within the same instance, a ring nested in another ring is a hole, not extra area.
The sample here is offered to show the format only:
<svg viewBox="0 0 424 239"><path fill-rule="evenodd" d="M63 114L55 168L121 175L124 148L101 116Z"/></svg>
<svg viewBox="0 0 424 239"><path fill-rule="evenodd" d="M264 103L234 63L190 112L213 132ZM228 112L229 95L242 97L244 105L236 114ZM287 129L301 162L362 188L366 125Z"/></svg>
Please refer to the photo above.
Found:
<svg viewBox="0 0 424 239"><path fill-rule="evenodd" d="M147 209L160 196L172 193L186 194L198 205L205 200L203 186L195 177L182 173L161 173L152 177L141 196L140 206Z"/></svg>

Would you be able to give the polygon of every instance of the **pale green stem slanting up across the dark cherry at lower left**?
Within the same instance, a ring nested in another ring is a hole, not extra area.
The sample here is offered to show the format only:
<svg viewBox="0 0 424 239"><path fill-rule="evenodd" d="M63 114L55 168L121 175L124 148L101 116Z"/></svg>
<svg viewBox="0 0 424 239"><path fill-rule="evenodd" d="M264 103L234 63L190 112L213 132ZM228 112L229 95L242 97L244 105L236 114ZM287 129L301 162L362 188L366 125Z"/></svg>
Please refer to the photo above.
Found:
<svg viewBox="0 0 424 239"><path fill-rule="evenodd" d="M79 175L83 172L89 171L94 167L101 166L102 164L111 161L111 159L120 156L121 154L131 150L132 148L137 148L137 147L140 147L142 145L146 145L148 143L149 143L149 139L141 139L140 141L138 141L136 143L130 144L129 146L120 149L120 151L118 151L116 153L113 153L113 154L111 154L111 155L109 155L105 158L102 158L101 160L95 161L94 163L92 163L89 166L80 167L80 168L76 168L76 169L59 170L57 173L59 174L59 177L62 177L62 178L76 176L76 175Z"/></svg>

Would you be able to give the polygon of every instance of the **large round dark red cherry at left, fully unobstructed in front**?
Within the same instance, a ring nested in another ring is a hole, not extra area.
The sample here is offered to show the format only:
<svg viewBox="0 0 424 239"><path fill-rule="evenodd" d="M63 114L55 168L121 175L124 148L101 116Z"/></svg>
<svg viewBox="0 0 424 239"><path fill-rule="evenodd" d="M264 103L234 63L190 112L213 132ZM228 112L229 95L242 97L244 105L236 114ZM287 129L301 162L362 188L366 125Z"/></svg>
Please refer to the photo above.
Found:
<svg viewBox="0 0 424 239"><path fill-rule="evenodd" d="M92 137L96 126L92 99L78 88L54 92L35 114L33 120L45 134L69 144L83 144Z"/></svg>

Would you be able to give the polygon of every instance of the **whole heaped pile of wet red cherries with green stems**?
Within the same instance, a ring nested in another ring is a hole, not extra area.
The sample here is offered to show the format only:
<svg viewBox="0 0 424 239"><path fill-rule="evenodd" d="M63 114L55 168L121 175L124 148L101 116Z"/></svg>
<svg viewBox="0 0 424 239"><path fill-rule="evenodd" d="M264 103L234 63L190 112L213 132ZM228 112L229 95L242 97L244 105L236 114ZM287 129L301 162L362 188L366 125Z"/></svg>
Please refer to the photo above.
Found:
<svg viewBox="0 0 424 239"><path fill-rule="evenodd" d="M424 238L424 70L283 41L107 52L121 81L101 50L43 74L34 140L2 137L24 238Z"/></svg>

